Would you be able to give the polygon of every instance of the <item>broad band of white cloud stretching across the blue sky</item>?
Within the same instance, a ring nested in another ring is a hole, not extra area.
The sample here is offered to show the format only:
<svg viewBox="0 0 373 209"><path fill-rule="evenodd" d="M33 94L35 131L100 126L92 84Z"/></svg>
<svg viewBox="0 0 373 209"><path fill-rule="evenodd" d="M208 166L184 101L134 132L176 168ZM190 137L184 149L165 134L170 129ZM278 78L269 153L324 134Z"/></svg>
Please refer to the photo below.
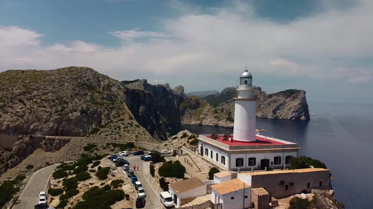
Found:
<svg viewBox="0 0 373 209"><path fill-rule="evenodd" d="M44 35L37 31L0 26L0 69L88 66L123 78L134 72L173 76L172 82L190 88L200 83L197 74L213 83L211 73L239 74L246 63L254 77L267 73L319 79L347 76L346 83L372 80L372 68L355 70L349 65L343 73L338 70L348 61L373 57L372 0L356 1L345 10L327 4L322 13L289 23L257 18L254 8L242 2L209 14L179 2L172 6L182 15L163 20L162 31L110 32L125 42L116 48L84 40L45 46L40 41ZM148 39L137 42L138 38Z"/></svg>

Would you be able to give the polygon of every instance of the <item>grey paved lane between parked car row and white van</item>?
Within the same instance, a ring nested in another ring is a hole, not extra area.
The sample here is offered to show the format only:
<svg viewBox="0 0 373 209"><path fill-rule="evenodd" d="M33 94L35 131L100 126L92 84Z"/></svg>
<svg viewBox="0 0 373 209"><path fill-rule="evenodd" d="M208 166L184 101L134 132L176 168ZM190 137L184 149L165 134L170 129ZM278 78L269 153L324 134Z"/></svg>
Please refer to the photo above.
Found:
<svg viewBox="0 0 373 209"><path fill-rule="evenodd" d="M144 187L145 193L146 193L146 203L144 209L164 209L163 204L159 200L159 192L160 190L157 190L150 185L147 181L147 176L149 174L145 174L142 171L142 163L144 163L143 160L140 159L141 155L129 155L127 157L123 157L125 160L128 160L128 162L131 164L129 167L131 169L134 168L134 165L139 166L139 171L135 171L135 174L138 178L138 180L141 182L142 186ZM107 158L106 158L107 159ZM108 159L107 159L108 160ZM108 160L111 162L110 160ZM146 162L145 162L146 163ZM118 167L119 169L122 169ZM135 207L134 207L135 208Z"/></svg>

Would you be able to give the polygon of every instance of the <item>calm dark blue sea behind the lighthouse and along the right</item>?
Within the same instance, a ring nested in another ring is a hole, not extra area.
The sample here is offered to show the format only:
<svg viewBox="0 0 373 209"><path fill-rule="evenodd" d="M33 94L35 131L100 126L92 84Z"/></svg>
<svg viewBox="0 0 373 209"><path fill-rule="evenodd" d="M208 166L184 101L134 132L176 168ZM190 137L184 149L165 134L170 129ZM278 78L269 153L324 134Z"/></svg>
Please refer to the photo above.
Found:
<svg viewBox="0 0 373 209"><path fill-rule="evenodd" d="M262 135L298 143L299 155L316 158L333 175L335 197L346 209L372 209L373 197L373 104L310 103L309 121L256 119ZM232 128L179 125L169 129L175 135L224 134Z"/></svg>

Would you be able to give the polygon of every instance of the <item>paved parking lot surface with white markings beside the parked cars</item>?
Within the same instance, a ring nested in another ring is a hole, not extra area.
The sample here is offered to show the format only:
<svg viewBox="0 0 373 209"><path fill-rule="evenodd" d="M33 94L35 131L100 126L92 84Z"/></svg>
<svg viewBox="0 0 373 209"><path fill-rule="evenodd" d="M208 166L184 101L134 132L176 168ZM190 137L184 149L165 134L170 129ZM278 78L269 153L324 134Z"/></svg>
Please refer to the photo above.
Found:
<svg viewBox="0 0 373 209"><path fill-rule="evenodd" d="M130 154L127 157L123 157L124 160L128 160L129 168L132 170L134 165L138 165L139 170L135 170L135 174L138 180L141 182L142 186L144 187L146 193L146 204L145 209L164 209L163 204L159 200L159 193L163 192L160 189L158 182L153 179L150 175L150 162L144 162L140 159L141 155L132 155ZM111 160L107 159L108 162ZM119 170L122 170L122 167L117 167ZM123 171L123 170L122 170ZM123 171L125 173L125 171ZM127 177L126 177L127 178ZM135 191L137 192L137 191Z"/></svg>

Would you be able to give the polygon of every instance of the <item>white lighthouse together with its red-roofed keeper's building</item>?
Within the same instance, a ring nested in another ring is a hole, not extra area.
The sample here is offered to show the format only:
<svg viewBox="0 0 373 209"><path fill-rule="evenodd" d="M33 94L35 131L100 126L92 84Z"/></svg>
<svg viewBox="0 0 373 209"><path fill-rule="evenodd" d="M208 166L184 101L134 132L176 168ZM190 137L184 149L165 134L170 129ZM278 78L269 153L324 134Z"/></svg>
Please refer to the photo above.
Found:
<svg viewBox="0 0 373 209"><path fill-rule="evenodd" d="M240 75L235 100L233 135L201 134L198 157L220 170L241 171L284 168L298 157L298 144L256 132L256 98L253 76L247 67Z"/></svg>

